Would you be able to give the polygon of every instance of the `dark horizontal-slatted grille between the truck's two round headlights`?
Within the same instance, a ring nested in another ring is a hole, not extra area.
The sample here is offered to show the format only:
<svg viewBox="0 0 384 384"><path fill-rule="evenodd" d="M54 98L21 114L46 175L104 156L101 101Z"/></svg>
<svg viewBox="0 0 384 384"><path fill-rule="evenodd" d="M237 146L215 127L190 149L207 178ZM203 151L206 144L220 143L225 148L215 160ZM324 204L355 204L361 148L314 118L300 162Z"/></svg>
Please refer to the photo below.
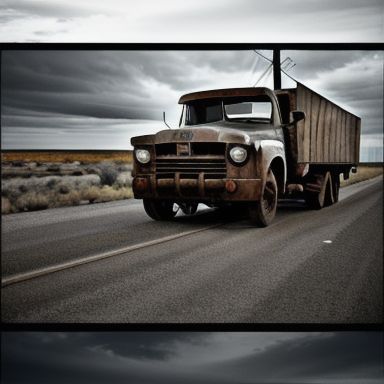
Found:
<svg viewBox="0 0 384 384"><path fill-rule="evenodd" d="M201 172L209 174L210 178L222 178L227 174L227 167L224 156L215 157L191 157L185 156L177 158L166 157L156 159L156 173L158 178L169 177L176 172L180 173L180 177L192 177Z"/></svg>

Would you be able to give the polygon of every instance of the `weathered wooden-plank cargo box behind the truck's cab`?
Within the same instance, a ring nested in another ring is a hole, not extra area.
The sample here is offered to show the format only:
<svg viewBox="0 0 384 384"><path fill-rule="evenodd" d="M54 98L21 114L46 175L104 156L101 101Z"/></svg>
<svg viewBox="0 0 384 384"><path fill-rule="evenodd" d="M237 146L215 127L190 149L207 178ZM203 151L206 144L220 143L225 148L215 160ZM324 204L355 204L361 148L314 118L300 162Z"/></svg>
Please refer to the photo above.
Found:
<svg viewBox="0 0 384 384"><path fill-rule="evenodd" d="M303 111L305 120L290 127L293 157L297 163L359 163L361 119L301 83L297 88L276 91L283 121L289 112Z"/></svg>

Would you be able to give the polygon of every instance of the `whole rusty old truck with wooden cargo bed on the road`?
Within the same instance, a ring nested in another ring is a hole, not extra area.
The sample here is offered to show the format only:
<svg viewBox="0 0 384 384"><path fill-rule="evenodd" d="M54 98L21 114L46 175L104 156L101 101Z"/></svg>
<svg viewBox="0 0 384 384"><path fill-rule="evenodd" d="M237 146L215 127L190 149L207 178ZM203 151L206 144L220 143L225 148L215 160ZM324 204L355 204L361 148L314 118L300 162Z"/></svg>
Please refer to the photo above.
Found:
<svg viewBox="0 0 384 384"><path fill-rule="evenodd" d="M154 220L203 203L245 208L266 227L279 199L336 203L340 175L359 162L361 119L299 82L194 92L179 104L179 128L131 139L134 196Z"/></svg>

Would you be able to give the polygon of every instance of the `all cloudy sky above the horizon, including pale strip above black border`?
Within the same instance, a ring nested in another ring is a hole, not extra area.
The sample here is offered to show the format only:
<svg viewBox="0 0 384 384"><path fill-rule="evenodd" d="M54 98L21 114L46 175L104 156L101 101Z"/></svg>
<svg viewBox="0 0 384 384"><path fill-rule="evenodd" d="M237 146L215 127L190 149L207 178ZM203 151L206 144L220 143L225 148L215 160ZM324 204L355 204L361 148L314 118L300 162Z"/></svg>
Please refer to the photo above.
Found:
<svg viewBox="0 0 384 384"><path fill-rule="evenodd" d="M2 0L3 149L131 149L130 138L177 128L181 95L254 86L269 62L252 49L187 43L380 43L381 0ZM123 5L124 4L124 5ZM182 4L182 5L181 5ZM289 23L287 23L287 20ZM272 23L272 24L271 24ZM273 26L273 27L272 27ZM272 28L271 28L272 27ZM186 43L113 51L108 44ZM362 118L361 161L382 160L383 50L282 51L289 75ZM27 49L26 49L27 47ZM191 50L192 49L194 50ZM180 48L180 46L179 46ZM271 51L262 51L268 57ZM257 84L272 87L269 73ZM283 86L295 86L287 77Z"/></svg>

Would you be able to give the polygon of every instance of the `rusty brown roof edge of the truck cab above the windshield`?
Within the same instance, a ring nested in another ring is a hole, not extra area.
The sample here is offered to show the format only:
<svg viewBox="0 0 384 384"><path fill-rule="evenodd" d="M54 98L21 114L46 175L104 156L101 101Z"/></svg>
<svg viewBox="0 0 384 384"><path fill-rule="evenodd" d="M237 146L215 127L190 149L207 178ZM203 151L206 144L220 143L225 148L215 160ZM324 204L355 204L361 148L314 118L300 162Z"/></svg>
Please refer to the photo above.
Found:
<svg viewBox="0 0 384 384"><path fill-rule="evenodd" d="M188 93L180 97L179 104L185 104L189 101L223 97L241 97L241 96L271 96L273 92L269 88L226 88L214 89L211 91L201 91Z"/></svg>

